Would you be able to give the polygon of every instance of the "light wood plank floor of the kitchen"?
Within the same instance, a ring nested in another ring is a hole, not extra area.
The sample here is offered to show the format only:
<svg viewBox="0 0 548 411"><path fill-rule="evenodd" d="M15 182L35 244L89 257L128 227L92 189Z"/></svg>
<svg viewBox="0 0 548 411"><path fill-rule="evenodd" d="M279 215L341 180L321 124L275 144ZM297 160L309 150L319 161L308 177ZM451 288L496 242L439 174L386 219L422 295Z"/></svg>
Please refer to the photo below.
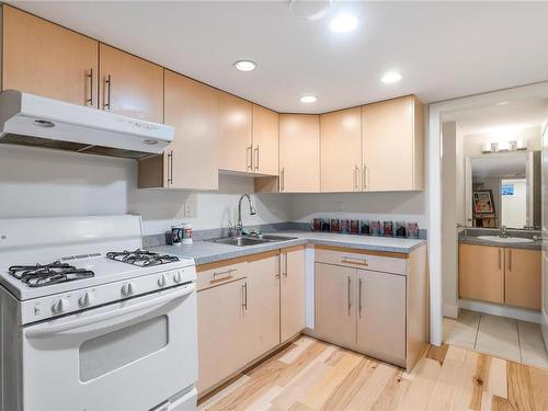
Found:
<svg viewBox="0 0 548 411"><path fill-rule="evenodd" d="M444 345L411 373L308 336L199 410L548 410L548 372Z"/></svg>

